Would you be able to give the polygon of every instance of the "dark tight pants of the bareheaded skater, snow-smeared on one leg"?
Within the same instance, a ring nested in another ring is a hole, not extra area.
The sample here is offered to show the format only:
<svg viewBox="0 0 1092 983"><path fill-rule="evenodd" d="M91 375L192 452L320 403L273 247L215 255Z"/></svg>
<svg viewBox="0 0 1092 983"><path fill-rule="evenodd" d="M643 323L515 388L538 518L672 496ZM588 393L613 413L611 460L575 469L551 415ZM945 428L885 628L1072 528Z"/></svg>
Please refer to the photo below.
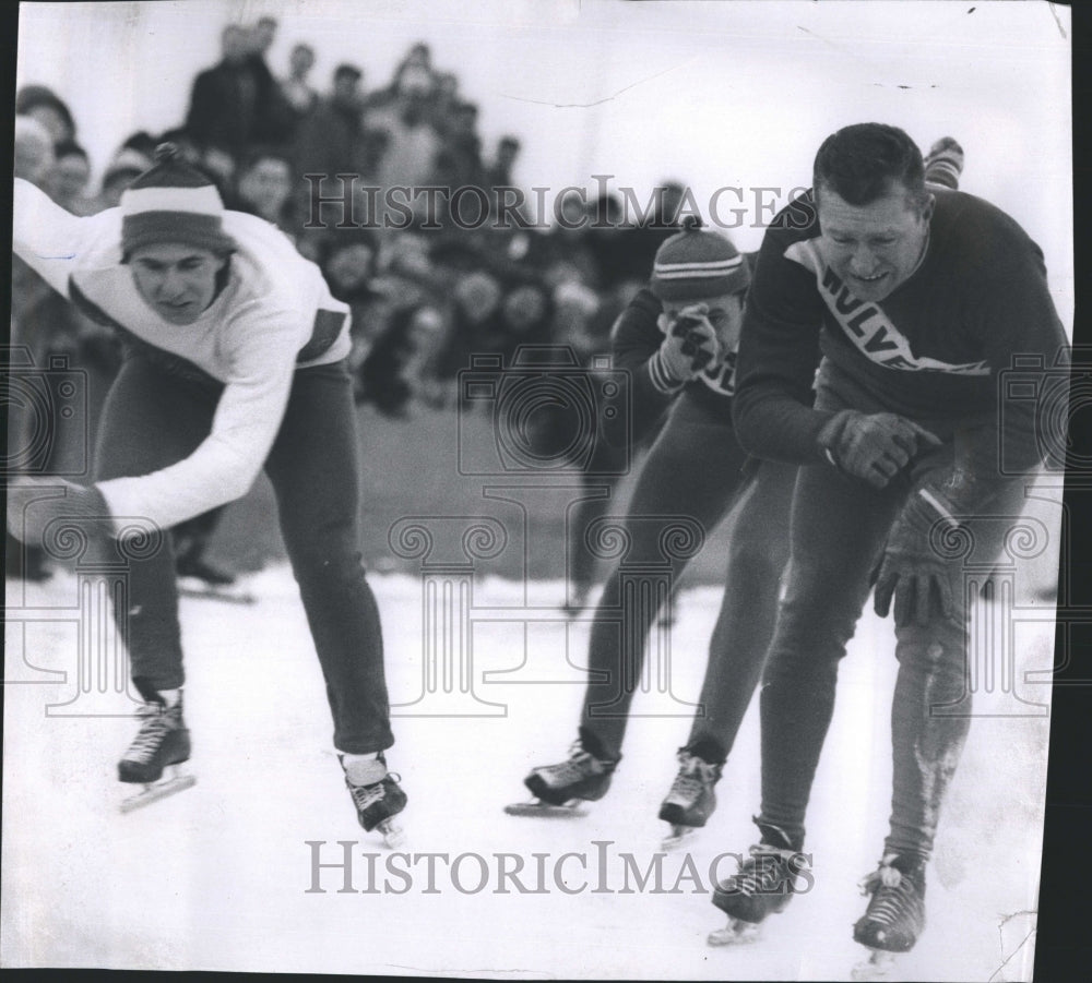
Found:
<svg viewBox="0 0 1092 983"><path fill-rule="evenodd" d="M824 365L816 406L864 412L883 409ZM910 481L876 490L826 465L800 469L793 499L792 560L770 647L761 695L762 812L799 847L819 754L834 709L838 667L871 590L870 573L911 489L953 459L953 422L919 420L946 440L913 466ZM975 554L996 558L1004 523L1023 506L1023 482L1009 482L989 505L989 522L968 523ZM891 828L886 851L928 856L945 791L970 718L938 708L964 695L966 604L964 566L946 564L953 616L895 630L899 674L891 709L894 763ZM965 710L964 710L965 712Z"/></svg>

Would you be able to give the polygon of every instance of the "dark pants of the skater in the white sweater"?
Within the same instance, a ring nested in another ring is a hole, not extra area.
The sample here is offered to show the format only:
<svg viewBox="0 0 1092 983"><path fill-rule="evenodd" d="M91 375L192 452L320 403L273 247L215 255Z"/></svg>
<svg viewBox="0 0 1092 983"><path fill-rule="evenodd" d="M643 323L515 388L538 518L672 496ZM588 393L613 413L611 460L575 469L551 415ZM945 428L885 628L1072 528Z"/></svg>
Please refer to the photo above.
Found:
<svg viewBox="0 0 1092 983"><path fill-rule="evenodd" d="M207 436L221 392L130 357L107 399L97 479L144 475L187 457ZM298 370L265 472L325 678L334 746L365 754L394 739L379 610L360 561L357 448L344 364ZM147 696L185 679L170 537L130 564L129 610L115 616L128 632L133 682Z"/></svg>

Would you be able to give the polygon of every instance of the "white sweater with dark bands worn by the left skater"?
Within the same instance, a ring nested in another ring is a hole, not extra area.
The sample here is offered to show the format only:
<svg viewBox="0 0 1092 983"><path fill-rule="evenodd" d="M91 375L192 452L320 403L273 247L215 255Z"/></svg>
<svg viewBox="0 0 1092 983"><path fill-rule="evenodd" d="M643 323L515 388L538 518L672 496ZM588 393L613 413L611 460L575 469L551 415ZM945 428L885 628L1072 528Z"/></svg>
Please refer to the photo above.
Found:
<svg viewBox="0 0 1092 983"><path fill-rule="evenodd" d="M348 353L348 308L334 300L319 268L287 237L241 212L224 213L224 231L238 244L227 285L195 322L170 324L141 298L121 262L120 209L78 217L15 180L12 249L20 259L66 297L71 299L74 286L81 300L123 331L225 384L212 432L189 457L99 482L119 529L132 518L167 528L244 495L281 427L296 369ZM320 311L329 313L317 322ZM336 336L314 357L297 361L318 323L332 324Z"/></svg>

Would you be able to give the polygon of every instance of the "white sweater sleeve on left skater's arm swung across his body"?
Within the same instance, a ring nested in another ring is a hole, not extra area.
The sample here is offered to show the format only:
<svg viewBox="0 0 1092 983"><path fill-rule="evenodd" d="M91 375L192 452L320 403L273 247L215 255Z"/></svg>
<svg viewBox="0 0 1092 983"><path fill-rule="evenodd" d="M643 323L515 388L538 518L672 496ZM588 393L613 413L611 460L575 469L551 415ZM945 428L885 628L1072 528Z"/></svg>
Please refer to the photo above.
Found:
<svg viewBox="0 0 1092 983"><path fill-rule="evenodd" d="M207 437L189 456L149 475L99 482L121 531L126 519L169 528L246 494L284 417L295 372L299 313L257 302L225 332L232 375Z"/></svg>

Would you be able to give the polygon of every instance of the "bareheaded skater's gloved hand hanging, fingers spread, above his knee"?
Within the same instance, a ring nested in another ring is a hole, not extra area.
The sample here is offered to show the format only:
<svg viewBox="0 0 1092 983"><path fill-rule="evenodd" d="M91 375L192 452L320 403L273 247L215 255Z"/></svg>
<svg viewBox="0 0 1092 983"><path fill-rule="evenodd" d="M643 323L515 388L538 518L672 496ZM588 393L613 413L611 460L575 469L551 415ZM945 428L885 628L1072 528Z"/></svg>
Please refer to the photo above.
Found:
<svg viewBox="0 0 1092 983"><path fill-rule="evenodd" d="M956 610L947 564L931 542L937 524L959 528L951 503L926 484L906 501L888 535L887 547L876 571L876 613L886 618L894 598L894 623L928 624L934 604L946 618ZM939 530L938 530L939 531Z"/></svg>

